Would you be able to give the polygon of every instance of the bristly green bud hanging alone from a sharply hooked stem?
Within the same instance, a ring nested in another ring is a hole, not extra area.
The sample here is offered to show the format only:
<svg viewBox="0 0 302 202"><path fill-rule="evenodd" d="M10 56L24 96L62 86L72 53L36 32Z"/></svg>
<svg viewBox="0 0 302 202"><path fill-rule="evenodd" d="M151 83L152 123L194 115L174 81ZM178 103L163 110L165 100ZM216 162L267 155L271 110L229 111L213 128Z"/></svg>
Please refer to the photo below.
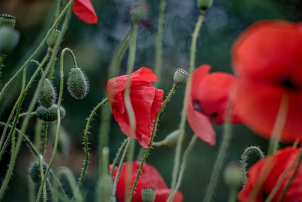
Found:
<svg viewBox="0 0 302 202"><path fill-rule="evenodd" d="M72 68L67 80L67 90L76 99L83 99L89 90L88 78L78 67Z"/></svg>

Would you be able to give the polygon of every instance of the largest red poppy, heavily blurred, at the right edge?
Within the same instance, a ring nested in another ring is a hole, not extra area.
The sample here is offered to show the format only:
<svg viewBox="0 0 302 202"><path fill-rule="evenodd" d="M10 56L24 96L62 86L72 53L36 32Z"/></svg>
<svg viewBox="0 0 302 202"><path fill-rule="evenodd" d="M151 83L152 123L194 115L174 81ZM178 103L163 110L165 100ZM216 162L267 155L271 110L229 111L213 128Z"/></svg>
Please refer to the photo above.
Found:
<svg viewBox="0 0 302 202"><path fill-rule="evenodd" d="M302 139L302 23L257 22L239 35L232 55L240 80L237 104L246 124L270 138L282 96L287 94L281 141Z"/></svg>

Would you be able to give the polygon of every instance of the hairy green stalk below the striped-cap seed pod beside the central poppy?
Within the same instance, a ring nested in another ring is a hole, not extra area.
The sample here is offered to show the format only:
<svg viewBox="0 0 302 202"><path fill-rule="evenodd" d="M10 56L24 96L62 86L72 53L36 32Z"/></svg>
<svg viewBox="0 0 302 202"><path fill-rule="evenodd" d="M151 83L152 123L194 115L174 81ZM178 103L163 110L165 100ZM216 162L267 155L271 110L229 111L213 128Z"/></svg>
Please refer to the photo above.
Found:
<svg viewBox="0 0 302 202"><path fill-rule="evenodd" d="M173 95L175 89L177 88L177 86L178 86L177 84L173 84L173 87L170 90L169 95L167 96L167 98L165 99L165 101L162 103L162 106L159 108L159 110L157 112L157 115L156 115L156 118L155 118L155 122L154 122L154 126L153 126L152 135L151 135L151 140L150 140L148 148L146 149L145 155L143 156L143 159L141 161L140 168L137 171L136 178L135 178L135 180L133 182L132 190L131 190L130 196L128 198L128 202L131 202L131 199L133 197L133 193L135 191L135 187L136 187L138 178L140 177L140 173L142 171L143 165L144 165L144 163L146 161L146 158L147 158L147 156L149 154L149 151L150 151L150 149L152 147L153 139L154 139L155 132L156 132L156 129L157 129L157 122L158 122L159 115L161 114L162 110L165 108L166 104L169 102L169 100L172 97L172 95Z"/></svg>

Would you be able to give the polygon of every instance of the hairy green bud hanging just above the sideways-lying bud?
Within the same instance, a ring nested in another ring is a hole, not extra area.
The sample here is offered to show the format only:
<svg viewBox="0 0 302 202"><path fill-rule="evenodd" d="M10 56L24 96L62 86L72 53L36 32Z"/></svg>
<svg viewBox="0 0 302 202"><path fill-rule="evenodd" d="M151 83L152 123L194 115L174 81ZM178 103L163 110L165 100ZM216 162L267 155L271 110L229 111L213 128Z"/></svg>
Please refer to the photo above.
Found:
<svg viewBox="0 0 302 202"><path fill-rule="evenodd" d="M41 90L38 94L38 102L45 108L50 108L56 99L56 91L48 79L42 82Z"/></svg>

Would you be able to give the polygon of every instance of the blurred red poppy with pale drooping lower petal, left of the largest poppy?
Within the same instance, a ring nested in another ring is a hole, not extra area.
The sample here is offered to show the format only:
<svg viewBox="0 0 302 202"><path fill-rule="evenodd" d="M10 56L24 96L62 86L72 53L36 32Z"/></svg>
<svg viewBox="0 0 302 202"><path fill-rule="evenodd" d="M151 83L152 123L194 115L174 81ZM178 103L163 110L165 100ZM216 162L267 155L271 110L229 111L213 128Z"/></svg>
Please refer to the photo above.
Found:
<svg viewBox="0 0 302 202"><path fill-rule="evenodd" d="M211 122L223 124L226 107L233 99L237 79L229 73L209 73L210 69L210 65L204 64L192 75L187 118L191 129L199 138L210 145L215 145L216 134ZM236 108L235 105L233 123L241 122Z"/></svg>

